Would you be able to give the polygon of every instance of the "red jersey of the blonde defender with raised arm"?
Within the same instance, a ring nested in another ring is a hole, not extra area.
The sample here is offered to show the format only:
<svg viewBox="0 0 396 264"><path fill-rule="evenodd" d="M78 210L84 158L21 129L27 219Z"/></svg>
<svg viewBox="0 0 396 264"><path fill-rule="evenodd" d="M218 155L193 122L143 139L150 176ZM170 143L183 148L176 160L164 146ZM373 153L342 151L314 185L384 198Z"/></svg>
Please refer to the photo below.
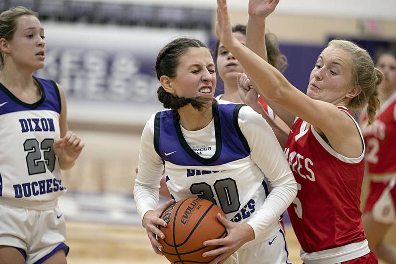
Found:
<svg viewBox="0 0 396 264"><path fill-rule="evenodd" d="M358 127L346 107L338 108ZM311 125L306 126L297 118L285 149L298 188L288 208L297 239L307 253L362 241L366 238L360 212L364 151L358 158L342 156Z"/></svg>

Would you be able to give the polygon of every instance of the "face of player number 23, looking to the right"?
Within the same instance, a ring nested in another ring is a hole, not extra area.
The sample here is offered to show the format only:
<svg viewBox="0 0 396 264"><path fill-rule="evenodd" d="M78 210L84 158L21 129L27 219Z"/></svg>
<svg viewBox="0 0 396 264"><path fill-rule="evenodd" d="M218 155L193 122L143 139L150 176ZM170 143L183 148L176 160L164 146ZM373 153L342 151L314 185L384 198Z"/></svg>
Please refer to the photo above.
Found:
<svg viewBox="0 0 396 264"><path fill-rule="evenodd" d="M7 41L9 49L5 53L18 67L32 72L43 68L46 42L40 20L33 15L22 15L16 19L16 25L12 39Z"/></svg>

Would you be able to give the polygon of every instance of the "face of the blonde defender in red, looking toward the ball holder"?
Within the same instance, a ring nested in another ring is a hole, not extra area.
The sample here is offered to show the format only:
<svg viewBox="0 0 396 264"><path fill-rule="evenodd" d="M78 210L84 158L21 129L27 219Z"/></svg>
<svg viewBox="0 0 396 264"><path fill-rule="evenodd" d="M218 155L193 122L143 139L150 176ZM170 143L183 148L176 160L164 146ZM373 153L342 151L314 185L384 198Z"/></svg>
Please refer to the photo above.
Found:
<svg viewBox="0 0 396 264"><path fill-rule="evenodd" d="M351 57L343 49L329 46L319 55L309 76L307 96L337 105L352 88Z"/></svg>

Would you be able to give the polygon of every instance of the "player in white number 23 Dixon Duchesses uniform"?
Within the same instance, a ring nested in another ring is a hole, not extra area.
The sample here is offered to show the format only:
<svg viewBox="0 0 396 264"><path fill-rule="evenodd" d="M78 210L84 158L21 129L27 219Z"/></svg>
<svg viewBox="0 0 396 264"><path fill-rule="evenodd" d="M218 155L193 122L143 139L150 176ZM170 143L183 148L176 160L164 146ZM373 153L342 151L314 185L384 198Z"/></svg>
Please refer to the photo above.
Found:
<svg viewBox="0 0 396 264"><path fill-rule="evenodd" d="M65 264L66 192L60 169L74 165L84 143L66 122L63 89L32 73L44 67L38 14L0 14L0 263Z"/></svg>

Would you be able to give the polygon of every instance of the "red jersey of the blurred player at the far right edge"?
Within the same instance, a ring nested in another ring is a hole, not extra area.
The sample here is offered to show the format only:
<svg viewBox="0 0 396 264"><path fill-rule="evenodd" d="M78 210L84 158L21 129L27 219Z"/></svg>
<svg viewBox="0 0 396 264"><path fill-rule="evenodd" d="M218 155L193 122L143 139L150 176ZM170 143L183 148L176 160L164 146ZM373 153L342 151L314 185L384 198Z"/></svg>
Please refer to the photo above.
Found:
<svg viewBox="0 0 396 264"><path fill-rule="evenodd" d="M396 92L381 106L375 122L362 129L370 173L396 172Z"/></svg>

